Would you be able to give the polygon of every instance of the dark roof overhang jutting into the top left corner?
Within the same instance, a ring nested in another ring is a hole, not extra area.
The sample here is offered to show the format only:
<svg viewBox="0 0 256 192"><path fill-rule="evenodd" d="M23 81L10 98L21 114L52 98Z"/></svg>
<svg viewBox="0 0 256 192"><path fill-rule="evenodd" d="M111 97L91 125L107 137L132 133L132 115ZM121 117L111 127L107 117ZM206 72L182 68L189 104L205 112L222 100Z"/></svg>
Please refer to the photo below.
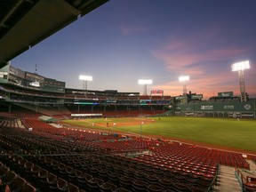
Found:
<svg viewBox="0 0 256 192"><path fill-rule="evenodd" d="M0 68L108 0L0 1Z"/></svg>

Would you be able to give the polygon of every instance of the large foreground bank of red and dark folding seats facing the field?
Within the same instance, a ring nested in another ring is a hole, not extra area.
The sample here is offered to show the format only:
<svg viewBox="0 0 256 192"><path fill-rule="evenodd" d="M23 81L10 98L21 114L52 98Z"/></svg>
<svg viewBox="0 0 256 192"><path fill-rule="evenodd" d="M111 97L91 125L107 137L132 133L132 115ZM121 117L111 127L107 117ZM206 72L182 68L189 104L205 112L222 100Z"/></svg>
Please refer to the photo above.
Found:
<svg viewBox="0 0 256 192"><path fill-rule="evenodd" d="M55 128L35 119L22 119L22 124L26 129L12 124L0 127L3 188L212 191L219 164L250 169L244 157L233 152L169 140L125 139L104 132ZM28 131L31 127L33 130ZM20 181L7 182L11 177L7 172Z"/></svg>

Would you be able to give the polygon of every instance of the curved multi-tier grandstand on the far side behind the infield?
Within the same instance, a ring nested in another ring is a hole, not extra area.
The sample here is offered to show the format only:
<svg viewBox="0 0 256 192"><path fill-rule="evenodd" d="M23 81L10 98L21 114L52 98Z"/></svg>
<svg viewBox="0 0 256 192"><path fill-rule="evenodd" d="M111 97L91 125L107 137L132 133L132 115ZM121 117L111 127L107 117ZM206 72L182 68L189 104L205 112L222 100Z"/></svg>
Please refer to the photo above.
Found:
<svg viewBox="0 0 256 192"><path fill-rule="evenodd" d="M169 110L170 96L140 95L116 90L92 91L65 87L65 82L6 65L0 72L1 106L4 112L27 108L45 116L72 115L152 116ZM5 108L5 109L4 109ZM79 117L81 117L79 116Z"/></svg>

